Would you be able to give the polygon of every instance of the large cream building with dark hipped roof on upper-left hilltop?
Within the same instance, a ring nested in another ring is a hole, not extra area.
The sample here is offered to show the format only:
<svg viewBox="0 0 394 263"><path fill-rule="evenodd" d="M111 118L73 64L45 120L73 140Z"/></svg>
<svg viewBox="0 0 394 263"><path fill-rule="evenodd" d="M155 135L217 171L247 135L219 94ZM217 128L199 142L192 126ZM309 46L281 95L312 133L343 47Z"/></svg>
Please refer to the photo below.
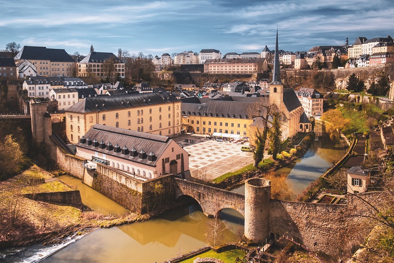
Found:
<svg viewBox="0 0 394 263"><path fill-rule="evenodd" d="M40 76L72 76L76 64L66 50L44 46L24 46L14 59L16 63L28 60Z"/></svg>

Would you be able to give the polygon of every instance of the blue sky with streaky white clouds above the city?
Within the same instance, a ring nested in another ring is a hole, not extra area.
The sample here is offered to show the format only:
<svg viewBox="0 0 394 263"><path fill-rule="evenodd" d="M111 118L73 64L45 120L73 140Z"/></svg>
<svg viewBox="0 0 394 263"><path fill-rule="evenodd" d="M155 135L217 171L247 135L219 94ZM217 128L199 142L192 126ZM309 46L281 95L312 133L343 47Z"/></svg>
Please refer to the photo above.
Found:
<svg viewBox="0 0 394 263"><path fill-rule="evenodd" d="M0 49L260 53L274 49L278 28L279 49L296 52L394 37L393 14L392 0L0 0Z"/></svg>

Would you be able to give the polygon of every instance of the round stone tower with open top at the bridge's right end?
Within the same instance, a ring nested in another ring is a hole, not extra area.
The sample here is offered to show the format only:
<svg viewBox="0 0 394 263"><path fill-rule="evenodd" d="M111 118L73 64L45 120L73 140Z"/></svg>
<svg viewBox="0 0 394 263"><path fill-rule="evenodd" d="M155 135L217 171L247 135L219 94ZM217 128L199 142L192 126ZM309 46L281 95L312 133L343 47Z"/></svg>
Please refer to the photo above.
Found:
<svg viewBox="0 0 394 263"><path fill-rule="evenodd" d="M269 237L271 182L251 178L245 182L245 236L261 242Z"/></svg>

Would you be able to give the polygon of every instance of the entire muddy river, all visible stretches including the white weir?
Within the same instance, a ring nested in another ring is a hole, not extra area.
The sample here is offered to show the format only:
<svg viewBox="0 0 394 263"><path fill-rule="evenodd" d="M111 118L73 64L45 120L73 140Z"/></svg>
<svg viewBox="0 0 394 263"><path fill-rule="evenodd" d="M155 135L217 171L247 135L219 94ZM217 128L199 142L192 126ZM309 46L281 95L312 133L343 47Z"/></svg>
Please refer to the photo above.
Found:
<svg viewBox="0 0 394 263"><path fill-rule="evenodd" d="M343 156L344 151L328 139L324 132L306 154L278 173L288 174L295 191L301 191L310 182L321 176L332 165L332 161ZM129 210L118 205L99 192L71 176L60 176L62 181L80 190L85 205L102 214L123 215ZM244 186L233 191L244 193ZM243 233L244 218L232 209L223 209L220 243L237 242ZM184 206L167 211L155 219L111 228L100 228L78 239L65 239L61 245L36 244L27 248L0 252L0 262L163 262L188 251L206 245L207 234L215 225L215 219L207 218L197 205Z"/></svg>

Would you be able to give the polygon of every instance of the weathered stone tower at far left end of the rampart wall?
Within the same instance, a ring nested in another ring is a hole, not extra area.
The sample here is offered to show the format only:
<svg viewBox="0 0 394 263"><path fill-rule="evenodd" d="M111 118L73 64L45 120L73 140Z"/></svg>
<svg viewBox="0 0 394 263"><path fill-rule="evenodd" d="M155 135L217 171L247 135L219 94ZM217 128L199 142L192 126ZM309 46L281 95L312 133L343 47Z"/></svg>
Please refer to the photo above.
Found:
<svg viewBox="0 0 394 263"><path fill-rule="evenodd" d="M47 113L47 104L32 101L30 104L32 117L32 137L34 143L48 143L52 135L51 115Z"/></svg>

